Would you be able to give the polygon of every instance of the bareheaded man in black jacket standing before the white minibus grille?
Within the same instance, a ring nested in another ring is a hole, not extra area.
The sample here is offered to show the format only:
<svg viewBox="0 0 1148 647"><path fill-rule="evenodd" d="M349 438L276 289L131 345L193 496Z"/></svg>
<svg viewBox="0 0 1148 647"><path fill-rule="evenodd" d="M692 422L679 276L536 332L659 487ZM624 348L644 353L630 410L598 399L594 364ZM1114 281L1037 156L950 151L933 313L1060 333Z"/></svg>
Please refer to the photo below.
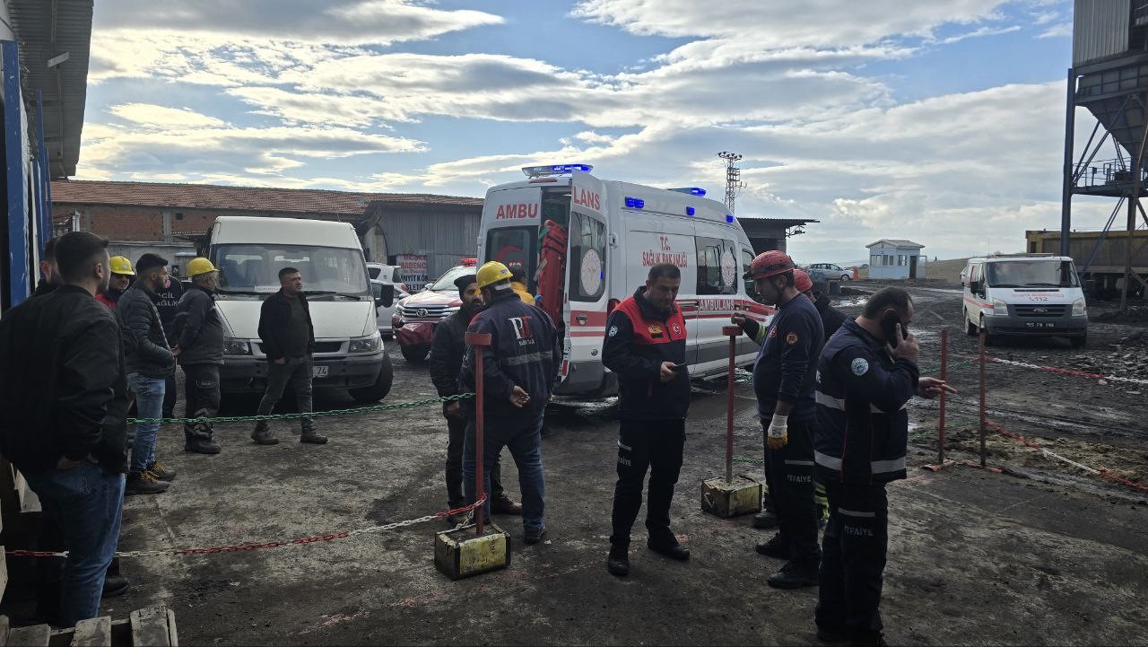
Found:
<svg viewBox="0 0 1148 647"><path fill-rule="evenodd" d="M315 431L315 418L308 416L311 413L315 326L307 296L303 295L303 277L297 269L279 270L279 292L267 296L259 308L259 339L267 356L267 391L259 401L258 414L270 414L290 383L298 413L304 414L300 418L302 433L298 441L323 445L327 437ZM265 421L255 423L251 440L259 445L279 442L271 436L271 428Z"/></svg>

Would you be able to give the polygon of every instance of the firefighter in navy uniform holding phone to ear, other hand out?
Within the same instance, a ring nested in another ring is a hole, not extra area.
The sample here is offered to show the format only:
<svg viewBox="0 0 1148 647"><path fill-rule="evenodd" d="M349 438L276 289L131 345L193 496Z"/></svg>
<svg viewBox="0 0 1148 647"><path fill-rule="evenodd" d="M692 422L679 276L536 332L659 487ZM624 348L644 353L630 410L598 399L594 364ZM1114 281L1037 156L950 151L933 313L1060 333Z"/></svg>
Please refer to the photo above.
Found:
<svg viewBox="0 0 1148 647"><path fill-rule="evenodd" d="M956 393L920 377L912 319L909 293L886 287L821 352L815 461L830 517L815 618L827 642L885 644L878 610L889 542L885 484L905 478L906 403Z"/></svg>

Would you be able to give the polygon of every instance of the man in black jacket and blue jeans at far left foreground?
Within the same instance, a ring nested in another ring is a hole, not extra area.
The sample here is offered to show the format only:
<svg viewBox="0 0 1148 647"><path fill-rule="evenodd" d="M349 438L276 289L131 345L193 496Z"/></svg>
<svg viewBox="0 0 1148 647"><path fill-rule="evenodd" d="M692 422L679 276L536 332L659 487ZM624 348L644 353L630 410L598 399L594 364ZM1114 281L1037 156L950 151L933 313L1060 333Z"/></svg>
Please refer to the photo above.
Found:
<svg viewBox="0 0 1148 647"><path fill-rule="evenodd" d="M119 326L95 300L108 283L106 247L87 232L61 237L60 287L0 319L0 453L63 526L63 626L99 615L127 471Z"/></svg>

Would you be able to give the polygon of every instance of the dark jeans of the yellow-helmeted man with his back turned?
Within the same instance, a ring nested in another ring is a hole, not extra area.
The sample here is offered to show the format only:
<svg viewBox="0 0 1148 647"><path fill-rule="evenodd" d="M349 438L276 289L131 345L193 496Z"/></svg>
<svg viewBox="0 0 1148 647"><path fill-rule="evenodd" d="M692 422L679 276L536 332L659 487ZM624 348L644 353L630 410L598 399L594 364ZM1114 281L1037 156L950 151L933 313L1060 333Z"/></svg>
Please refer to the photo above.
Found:
<svg viewBox="0 0 1148 647"><path fill-rule="evenodd" d="M478 465L474 436L474 417L467 416L466 441L463 444L463 487L466 490L467 503L478 499L474 487ZM482 439L483 492L490 492L490 470L503 447L510 449L514 464L518 465L518 485L522 490L522 527L542 530L545 527L543 516L546 504L546 482L542 473L542 416L529 415L526 419L487 416ZM483 506L487 518L490 516L490 500L488 494Z"/></svg>

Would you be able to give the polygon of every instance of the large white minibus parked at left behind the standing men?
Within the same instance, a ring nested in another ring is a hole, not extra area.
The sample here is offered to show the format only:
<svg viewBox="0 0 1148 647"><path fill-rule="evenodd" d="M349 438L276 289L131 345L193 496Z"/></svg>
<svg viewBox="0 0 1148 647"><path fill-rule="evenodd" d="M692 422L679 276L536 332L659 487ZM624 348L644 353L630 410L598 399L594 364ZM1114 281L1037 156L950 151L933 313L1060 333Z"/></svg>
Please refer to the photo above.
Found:
<svg viewBox="0 0 1148 647"><path fill-rule="evenodd" d="M219 216L208 238L208 257L219 268L216 305L224 319L225 393L266 388L267 361L259 340L259 308L279 291L279 270L298 269L315 325L316 390L340 388L360 402L377 402L394 377L375 322L393 287L375 298L363 247L349 223L296 218Z"/></svg>

